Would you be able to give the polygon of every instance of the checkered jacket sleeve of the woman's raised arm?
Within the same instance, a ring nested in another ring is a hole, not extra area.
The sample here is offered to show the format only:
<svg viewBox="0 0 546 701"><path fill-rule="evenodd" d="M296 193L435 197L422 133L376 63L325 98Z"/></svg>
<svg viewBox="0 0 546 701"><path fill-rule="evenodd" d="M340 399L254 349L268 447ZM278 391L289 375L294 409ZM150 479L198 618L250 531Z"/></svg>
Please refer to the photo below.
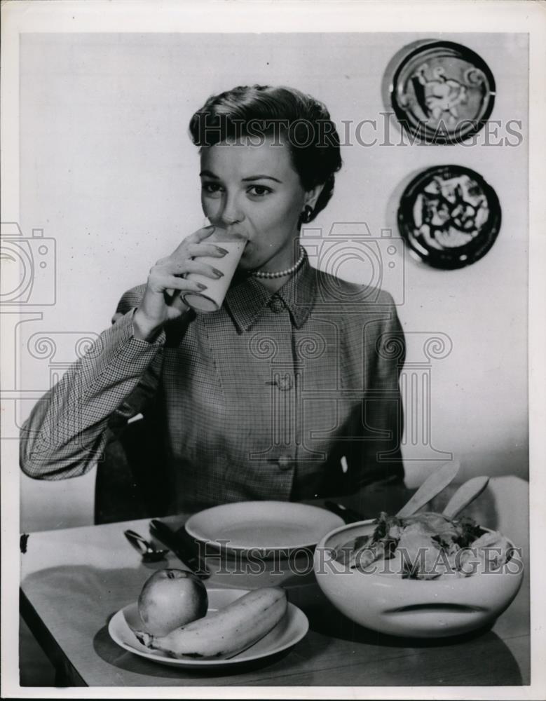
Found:
<svg viewBox="0 0 546 701"><path fill-rule="evenodd" d="M83 475L102 454L111 416L138 414L155 392L165 332L152 343L133 335L132 316L143 290L123 295L113 325L32 409L20 435L25 475Z"/></svg>

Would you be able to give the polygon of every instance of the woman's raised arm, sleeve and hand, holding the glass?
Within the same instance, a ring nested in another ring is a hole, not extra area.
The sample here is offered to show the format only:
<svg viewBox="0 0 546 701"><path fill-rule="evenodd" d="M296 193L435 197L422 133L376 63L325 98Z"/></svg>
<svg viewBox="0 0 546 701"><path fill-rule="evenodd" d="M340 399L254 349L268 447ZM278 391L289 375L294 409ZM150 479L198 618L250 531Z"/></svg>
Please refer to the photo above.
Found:
<svg viewBox="0 0 546 701"><path fill-rule="evenodd" d="M214 226L195 231L175 252L159 260L146 285L122 297L114 325L36 404L21 430L20 465L26 475L38 479L82 475L100 456L114 411L127 417L139 413L157 386L158 363L153 361L165 343L163 327L188 313L181 294L203 287L184 275L199 272L217 277L212 266L193 260L226 254L207 243L213 231ZM142 391L131 397L135 406L123 406L141 380Z"/></svg>

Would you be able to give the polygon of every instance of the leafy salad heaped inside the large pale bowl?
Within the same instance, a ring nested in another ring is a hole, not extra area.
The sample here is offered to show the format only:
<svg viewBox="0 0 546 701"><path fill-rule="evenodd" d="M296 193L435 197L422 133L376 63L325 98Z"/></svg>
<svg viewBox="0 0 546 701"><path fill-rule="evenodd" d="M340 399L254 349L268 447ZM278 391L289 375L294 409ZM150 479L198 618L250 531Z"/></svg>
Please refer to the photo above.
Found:
<svg viewBox="0 0 546 701"><path fill-rule="evenodd" d="M507 538L467 517L422 512L398 518L381 512L374 524L371 536L344 545L336 559L363 572L411 579L467 577L500 569L510 559Z"/></svg>

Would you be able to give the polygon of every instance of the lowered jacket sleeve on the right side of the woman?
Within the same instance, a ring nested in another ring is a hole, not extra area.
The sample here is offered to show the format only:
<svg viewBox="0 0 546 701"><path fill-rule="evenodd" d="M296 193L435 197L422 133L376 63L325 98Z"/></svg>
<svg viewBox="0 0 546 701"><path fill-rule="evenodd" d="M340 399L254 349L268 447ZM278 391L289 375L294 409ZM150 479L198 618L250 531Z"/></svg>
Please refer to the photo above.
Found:
<svg viewBox="0 0 546 701"><path fill-rule="evenodd" d="M399 384L406 351L404 332L390 294L381 293L381 307L383 318L371 326L373 330L365 339L371 372L358 421L362 438L351 447L349 458L355 486L359 487L404 477L404 411Z"/></svg>

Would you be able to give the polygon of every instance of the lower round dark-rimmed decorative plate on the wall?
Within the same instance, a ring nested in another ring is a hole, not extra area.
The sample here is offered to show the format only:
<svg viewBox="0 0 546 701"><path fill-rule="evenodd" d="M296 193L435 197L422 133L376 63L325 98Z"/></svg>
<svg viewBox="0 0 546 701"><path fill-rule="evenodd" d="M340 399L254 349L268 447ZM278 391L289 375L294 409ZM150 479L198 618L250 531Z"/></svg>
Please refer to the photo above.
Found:
<svg viewBox="0 0 546 701"><path fill-rule="evenodd" d="M398 227L425 263L463 268L489 251L500 229L500 204L481 175L462 165L437 165L404 190Z"/></svg>

